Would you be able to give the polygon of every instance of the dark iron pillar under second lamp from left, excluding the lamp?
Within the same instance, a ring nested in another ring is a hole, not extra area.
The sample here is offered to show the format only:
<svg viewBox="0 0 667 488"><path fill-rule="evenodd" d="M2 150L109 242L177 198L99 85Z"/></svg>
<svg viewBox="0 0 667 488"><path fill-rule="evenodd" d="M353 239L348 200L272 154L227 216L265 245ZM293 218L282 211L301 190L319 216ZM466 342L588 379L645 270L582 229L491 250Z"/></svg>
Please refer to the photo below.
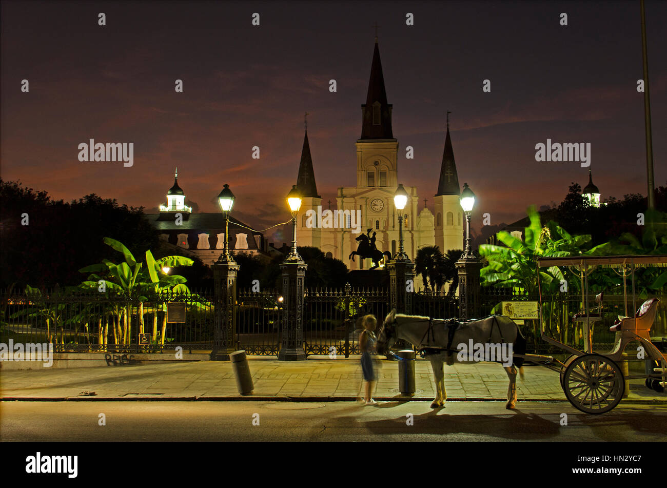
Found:
<svg viewBox="0 0 667 488"><path fill-rule="evenodd" d="M292 258L292 259L290 259ZM298 254L280 264L283 277L283 338L278 361L303 361L303 293L308 265Z"/></svg>

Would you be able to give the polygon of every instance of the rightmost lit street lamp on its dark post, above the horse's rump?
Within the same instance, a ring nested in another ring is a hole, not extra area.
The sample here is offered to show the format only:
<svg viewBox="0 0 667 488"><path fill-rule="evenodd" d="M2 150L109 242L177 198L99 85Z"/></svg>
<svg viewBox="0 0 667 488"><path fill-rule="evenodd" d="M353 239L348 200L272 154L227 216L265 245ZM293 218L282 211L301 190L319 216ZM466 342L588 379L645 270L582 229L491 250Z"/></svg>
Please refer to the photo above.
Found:
<svg viewBox="0 0 667 488"><path fill-rule="evenodd" d="M468 187L468 183L464 183L459 201L466 213L466 249L461 259L456 261L459 278L459 318L467 320L480 315L480 269L482 268L482 263L470 249L470 215L475 206L475 194Z"/></svg>

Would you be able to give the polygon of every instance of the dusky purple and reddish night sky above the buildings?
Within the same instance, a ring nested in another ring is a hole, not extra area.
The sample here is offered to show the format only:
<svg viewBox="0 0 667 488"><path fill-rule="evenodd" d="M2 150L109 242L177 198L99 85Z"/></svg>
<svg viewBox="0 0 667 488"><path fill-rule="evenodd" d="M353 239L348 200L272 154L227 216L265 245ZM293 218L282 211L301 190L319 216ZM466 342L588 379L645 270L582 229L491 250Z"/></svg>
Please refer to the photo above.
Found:
<svg viewBox="0 0 667 488"><path fill-rule="evenodd" d="M667 181L667 2L647 1L646 17L658 186ZM638 1L4 2L0 176L56 199L97 193L151 212L177 166L195 210L217 211L228 183L233 215L261 229L289 218L307 111L326 206L338 187L356 186L376 21L399 181L418 188L420 209L438 188L448 110L459 181L478 196L474 227L482 213L510 223L530 204L562 201L570 182L588 183L580 163L535 161L546 139L592 145L603 199L646 195ZM133 167L79 162L77 146L91 138L134 143Z"/></svg>

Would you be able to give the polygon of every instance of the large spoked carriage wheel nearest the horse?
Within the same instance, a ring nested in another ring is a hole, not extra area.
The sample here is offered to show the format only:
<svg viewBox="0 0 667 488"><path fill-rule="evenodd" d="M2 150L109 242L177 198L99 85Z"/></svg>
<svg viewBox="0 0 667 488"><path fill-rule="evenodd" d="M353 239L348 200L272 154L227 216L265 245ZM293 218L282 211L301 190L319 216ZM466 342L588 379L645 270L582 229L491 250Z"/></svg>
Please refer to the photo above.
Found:
<svg viewBox="0 0 667 488"><path fill-rule="evenodd" d="M620 368L599 354L579 356L565 370L563 391L575 408L605 413L623 398L625 382Z"/></svg>

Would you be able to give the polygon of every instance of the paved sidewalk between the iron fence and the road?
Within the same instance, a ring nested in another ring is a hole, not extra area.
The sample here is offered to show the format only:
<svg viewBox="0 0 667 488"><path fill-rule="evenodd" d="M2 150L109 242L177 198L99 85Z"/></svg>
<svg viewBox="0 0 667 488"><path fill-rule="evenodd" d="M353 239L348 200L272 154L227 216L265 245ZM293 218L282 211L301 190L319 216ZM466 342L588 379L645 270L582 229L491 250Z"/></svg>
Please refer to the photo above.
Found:
<svg viewBox="0 0 667 488"><path fill-rule="evenodd" d="M374 398L392 400L398 391L398 363L379 361ZM274 357L250 356L255 390L241 396L228 361L196 361L159 365L120 365L73 369L0 371L0 400L329 400L350 401L358 397L362 382L360 357L306 361L277 361ZM543 367L524 367L517 377L519 401L567 401L558 373ZM416 361L414 400L435 396L428 361ZM448 400L506 400L508 377L501 365L477 363L445 366ZM93 393L93 394L91 394ZM625 402L663 403L660 395L633 380Z"/></svg>

